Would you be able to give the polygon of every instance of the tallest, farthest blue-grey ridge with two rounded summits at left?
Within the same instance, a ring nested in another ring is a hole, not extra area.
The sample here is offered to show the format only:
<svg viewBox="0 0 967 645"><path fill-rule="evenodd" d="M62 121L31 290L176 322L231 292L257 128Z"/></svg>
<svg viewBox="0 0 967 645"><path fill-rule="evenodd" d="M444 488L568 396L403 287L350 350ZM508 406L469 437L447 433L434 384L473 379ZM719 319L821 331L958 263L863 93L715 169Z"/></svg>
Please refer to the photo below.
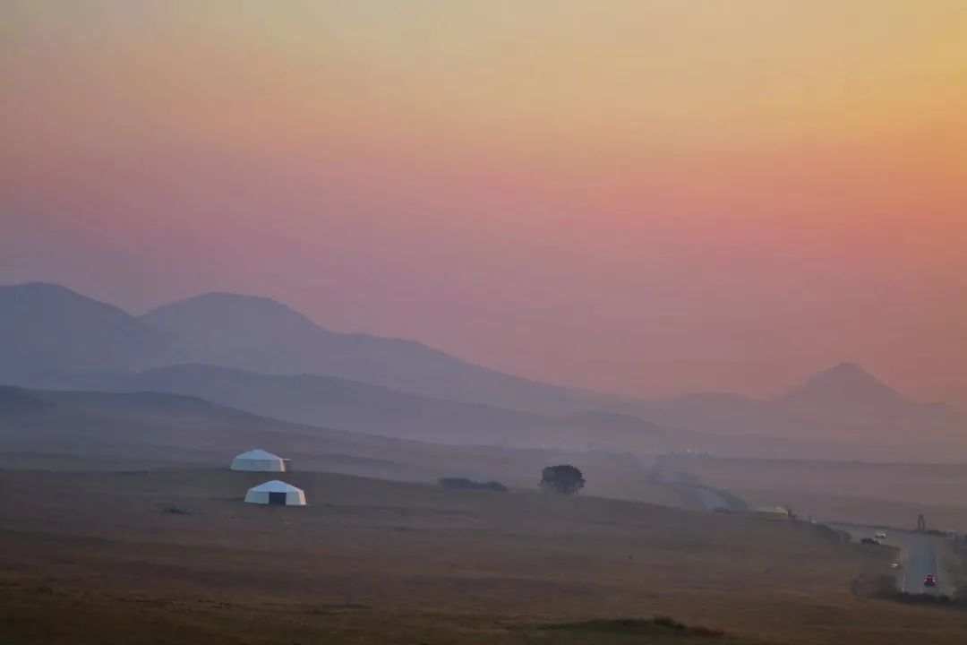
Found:
<svg viewBox="0 0 967 645"><path fill-rule="evenodd" d="M135 317L66 287L31 282L0 287L0 311L13 314L0 317L0 379L15 384L62 387L58 379L74 372L199 363L333 375L534 412L579 412L621 400L476 366L413 340L332 332L267 298L205 294Z"/></svg>

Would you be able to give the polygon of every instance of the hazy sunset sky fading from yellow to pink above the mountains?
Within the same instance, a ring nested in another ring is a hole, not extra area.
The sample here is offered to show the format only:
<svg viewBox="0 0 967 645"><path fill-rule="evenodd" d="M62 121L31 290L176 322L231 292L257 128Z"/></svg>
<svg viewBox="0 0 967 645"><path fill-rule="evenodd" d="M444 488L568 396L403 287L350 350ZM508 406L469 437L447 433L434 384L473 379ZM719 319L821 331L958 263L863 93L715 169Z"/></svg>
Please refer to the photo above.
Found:
<svg viewBox="0 0 967 645"><path fill-rule="evenodd" d="M967 405L967 3L0 4L0 282Z"/></svg>

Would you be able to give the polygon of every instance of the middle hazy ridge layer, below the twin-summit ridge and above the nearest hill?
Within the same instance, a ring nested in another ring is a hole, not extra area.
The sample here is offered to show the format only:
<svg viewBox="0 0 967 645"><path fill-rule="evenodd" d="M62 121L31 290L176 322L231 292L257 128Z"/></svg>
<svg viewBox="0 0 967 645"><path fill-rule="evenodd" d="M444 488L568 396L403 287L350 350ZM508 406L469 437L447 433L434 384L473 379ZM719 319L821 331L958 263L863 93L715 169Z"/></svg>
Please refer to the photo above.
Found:
<svg viewBox="0 0 967 645"><path fill-rule="evenodd" d="M880 456L841 440L813 441L735 432L703 434L621 413L539 415L435 399L332 376L257 374L231 367L170 366L115 375L100 389L196 396L298 425L338 427L451 447L655 454L851 458Z"/></svg>

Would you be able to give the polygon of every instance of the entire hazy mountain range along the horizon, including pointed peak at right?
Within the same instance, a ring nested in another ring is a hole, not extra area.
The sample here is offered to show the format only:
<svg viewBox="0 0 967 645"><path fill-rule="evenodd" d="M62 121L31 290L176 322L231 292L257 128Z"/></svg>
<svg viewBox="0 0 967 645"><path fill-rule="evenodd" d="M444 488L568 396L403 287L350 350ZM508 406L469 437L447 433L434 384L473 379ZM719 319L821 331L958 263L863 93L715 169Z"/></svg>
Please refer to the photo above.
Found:
<svg viewBox="0 0 967 645"><path fill-rule="evenodd" d="M140 316L63 286L0 286L0 383L198 396L279 420L519 448L951 457L963 417L843 364L765 399L631 399L539 383L422 343L341 334L214 293ZM960 457L962 458L962 457Z"/></svg>

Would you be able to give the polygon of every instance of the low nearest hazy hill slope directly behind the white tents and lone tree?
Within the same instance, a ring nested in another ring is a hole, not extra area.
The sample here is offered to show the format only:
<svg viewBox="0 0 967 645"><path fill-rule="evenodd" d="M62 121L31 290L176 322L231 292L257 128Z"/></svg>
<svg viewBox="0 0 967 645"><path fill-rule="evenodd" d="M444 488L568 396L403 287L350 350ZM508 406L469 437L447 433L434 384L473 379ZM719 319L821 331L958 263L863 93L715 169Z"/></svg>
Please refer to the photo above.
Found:
<svg viewBox="0 0 967 645"><path fill-rule="evenodd" d="M227 467L234 454L254 447L291 457L298 470L422 482L462 476L526 487L547 464L580 460L598 494L633 498L643 489L655 492L629 454L440 446L289 424L192 396L0 387L0 454L9 463L46 454L98 463ZM677 494L667 495L675 503Z"/></svg>

